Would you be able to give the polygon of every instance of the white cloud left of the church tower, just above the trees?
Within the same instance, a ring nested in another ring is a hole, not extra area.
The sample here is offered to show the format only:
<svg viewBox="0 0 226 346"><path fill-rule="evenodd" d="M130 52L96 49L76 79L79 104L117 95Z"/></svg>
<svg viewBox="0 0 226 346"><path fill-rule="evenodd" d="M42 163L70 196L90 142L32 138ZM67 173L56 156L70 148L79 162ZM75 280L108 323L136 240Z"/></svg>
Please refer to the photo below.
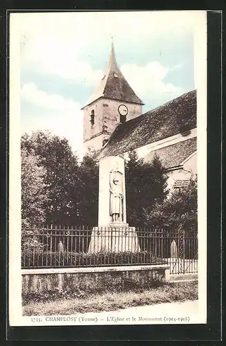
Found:
<svg viewBox="0 0 226 346"><path fill-rule="evenodd" d="M61 95L50 95L32 83L21 88L21 102L22 116L26 119L23 133L48 129L57 136L66 137L72 149L82 157L83 113L80 104Z"/></svg>

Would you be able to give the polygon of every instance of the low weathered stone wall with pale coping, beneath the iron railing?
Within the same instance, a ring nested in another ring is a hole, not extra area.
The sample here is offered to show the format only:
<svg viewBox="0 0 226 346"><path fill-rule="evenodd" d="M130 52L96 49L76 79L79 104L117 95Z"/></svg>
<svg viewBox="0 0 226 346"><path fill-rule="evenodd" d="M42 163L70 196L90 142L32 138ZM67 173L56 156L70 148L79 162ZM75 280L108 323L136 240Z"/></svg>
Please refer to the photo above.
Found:
<svg viewBox="0 0 226 346"><path fill-rule="evenodd" d="M133 282L149 282L151 286L151 283L169 282L169 271L167 265L23 269L22 292L26 295L30 292L50 291L56 287L62 290L79 287L92 293L105 284L109 286L109 282L112 287L125 282L129 282L131 288Z"/></svg>

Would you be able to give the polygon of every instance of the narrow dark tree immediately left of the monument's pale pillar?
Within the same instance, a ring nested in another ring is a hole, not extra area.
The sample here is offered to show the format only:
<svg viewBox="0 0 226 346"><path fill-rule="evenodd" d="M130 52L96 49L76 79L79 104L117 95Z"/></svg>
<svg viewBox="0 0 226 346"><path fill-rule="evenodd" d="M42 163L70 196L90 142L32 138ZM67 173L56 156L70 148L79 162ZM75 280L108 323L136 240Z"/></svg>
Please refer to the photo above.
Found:
<svg viewBox="0 0 226 346"><path fill-rule="evenodd" d="M79 167L79 220L84 225L97 225L99 176L95 152L89 151Z"/></svg>

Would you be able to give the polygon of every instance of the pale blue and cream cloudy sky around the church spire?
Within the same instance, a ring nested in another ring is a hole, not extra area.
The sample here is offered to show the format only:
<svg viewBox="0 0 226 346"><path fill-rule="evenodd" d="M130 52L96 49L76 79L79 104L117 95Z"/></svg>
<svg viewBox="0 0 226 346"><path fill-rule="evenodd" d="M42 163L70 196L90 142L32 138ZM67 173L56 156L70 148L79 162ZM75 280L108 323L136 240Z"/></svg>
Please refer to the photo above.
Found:
<svg viewBox="0 0 226 346"><path fill-rule="evenodd" d="M195 88L196 11L17 13L21 134L48 129L82 155L83 113L111 50L143 113Z"/></svg>

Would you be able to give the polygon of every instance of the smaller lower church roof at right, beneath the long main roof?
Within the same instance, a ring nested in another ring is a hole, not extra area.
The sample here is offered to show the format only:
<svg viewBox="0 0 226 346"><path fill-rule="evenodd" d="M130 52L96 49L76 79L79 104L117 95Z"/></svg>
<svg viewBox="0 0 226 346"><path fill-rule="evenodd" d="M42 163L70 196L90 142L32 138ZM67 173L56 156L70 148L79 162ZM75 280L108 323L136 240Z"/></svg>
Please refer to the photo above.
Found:
<svg viewBox="0 0 226 346"><path fill-rule="evenodd" d="M149 154L144 156L144 162L151 163L156 154L160 158L163 167L169 169L181 165L187 157L196 152L196 149L197 138L189 138L182 142L149 152Z"/></svg>

